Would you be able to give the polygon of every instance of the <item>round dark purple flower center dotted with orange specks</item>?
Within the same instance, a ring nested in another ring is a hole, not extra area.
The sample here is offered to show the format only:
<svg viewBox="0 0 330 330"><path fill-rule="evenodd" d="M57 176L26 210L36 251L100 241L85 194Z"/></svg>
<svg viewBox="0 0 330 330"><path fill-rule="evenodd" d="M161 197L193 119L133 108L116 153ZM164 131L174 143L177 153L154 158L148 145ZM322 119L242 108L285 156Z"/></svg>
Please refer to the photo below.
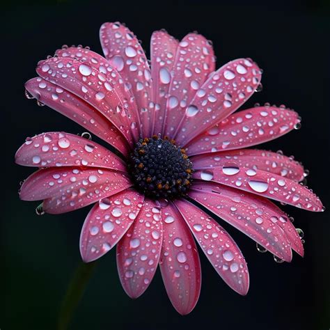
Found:
<svg viewBox="0 0 330 330"><path fill-rule="evenodd" d="M136 189L151 198L182 196L192 182L193 168L185 150L166 136L139 139L128 166Z"/></svg>

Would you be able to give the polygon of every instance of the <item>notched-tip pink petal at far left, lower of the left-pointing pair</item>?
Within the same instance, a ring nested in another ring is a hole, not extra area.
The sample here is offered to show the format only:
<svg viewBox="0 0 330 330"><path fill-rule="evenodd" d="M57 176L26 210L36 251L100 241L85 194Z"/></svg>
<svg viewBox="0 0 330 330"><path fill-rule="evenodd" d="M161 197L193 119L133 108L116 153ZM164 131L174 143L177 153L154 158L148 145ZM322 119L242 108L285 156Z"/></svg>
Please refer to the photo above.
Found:
<svg viewBox="0 0 330 330"><path fill-rule="evenodd" d="M123 173L107 168L45 168L36 171L22 184L23 201L45 199L43 210L58 214L77 210L131 186Z"/></svg>

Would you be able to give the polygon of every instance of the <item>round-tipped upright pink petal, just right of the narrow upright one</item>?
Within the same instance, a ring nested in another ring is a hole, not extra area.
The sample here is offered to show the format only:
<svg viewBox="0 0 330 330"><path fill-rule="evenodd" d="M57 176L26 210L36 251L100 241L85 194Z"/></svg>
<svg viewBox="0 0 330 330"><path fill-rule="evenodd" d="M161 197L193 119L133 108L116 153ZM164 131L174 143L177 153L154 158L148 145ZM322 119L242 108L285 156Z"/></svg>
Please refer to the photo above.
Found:
<svg viewBox="0 0 330 330"><path fill-rule="evenodd" d="M168 90L163 133L173 136L196 91L214 70L212 45L203 36L189 33L177 49Z"/></svg>

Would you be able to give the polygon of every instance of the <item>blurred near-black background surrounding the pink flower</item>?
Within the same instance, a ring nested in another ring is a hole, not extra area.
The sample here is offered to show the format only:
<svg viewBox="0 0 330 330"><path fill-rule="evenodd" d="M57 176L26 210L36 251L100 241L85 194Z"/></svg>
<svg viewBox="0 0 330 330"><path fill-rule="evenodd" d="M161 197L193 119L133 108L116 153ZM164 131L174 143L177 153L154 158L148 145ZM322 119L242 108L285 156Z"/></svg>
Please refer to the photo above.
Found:
<svg viewBox="0 0 330 330"><path fill-rule="evenodd" d="M329 3L219 3L1 5L1 330L56 328L58 308L81 260L79 234L90 208L38 217L38 203L19 201L19 181L33 171L13 163L26 136L84 132L55 111L26 100L24 81L36 76L38 60L63 44L101 52L98 31L103 22L125 22L147 52L152 31L165 28L176 38L198 31L213 40L217 68L233 58L253 58L264 70L264 88L244 108L255 102L285 104L303 118L299 131L262 148L281 149L304 162L311 171L308 187L329 207ZM113 249L98 262L70 329L329 329L329 211L284 209L306 240L305 258L295 254L290 264L258 253L253 241L221 221L249 262L246 297L230 290L201 255L201 298L190 315L182 317L172 308L159 272L147 292L133 301L120 287Z"/></svg>

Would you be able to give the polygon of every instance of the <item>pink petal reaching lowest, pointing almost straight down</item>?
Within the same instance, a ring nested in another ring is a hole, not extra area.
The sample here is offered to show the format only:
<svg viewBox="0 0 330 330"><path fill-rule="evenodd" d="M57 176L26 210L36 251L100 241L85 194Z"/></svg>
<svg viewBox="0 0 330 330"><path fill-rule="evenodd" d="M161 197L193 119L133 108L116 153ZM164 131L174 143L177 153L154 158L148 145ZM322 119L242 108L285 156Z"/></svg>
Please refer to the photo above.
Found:
<svg viewBox="0 0 330 330"><path fill-rule="evenodd" d="M190 313L201 292L201 263L189 228L171 203L162 207L163 244L159 267L174 308Z"/></svg>

